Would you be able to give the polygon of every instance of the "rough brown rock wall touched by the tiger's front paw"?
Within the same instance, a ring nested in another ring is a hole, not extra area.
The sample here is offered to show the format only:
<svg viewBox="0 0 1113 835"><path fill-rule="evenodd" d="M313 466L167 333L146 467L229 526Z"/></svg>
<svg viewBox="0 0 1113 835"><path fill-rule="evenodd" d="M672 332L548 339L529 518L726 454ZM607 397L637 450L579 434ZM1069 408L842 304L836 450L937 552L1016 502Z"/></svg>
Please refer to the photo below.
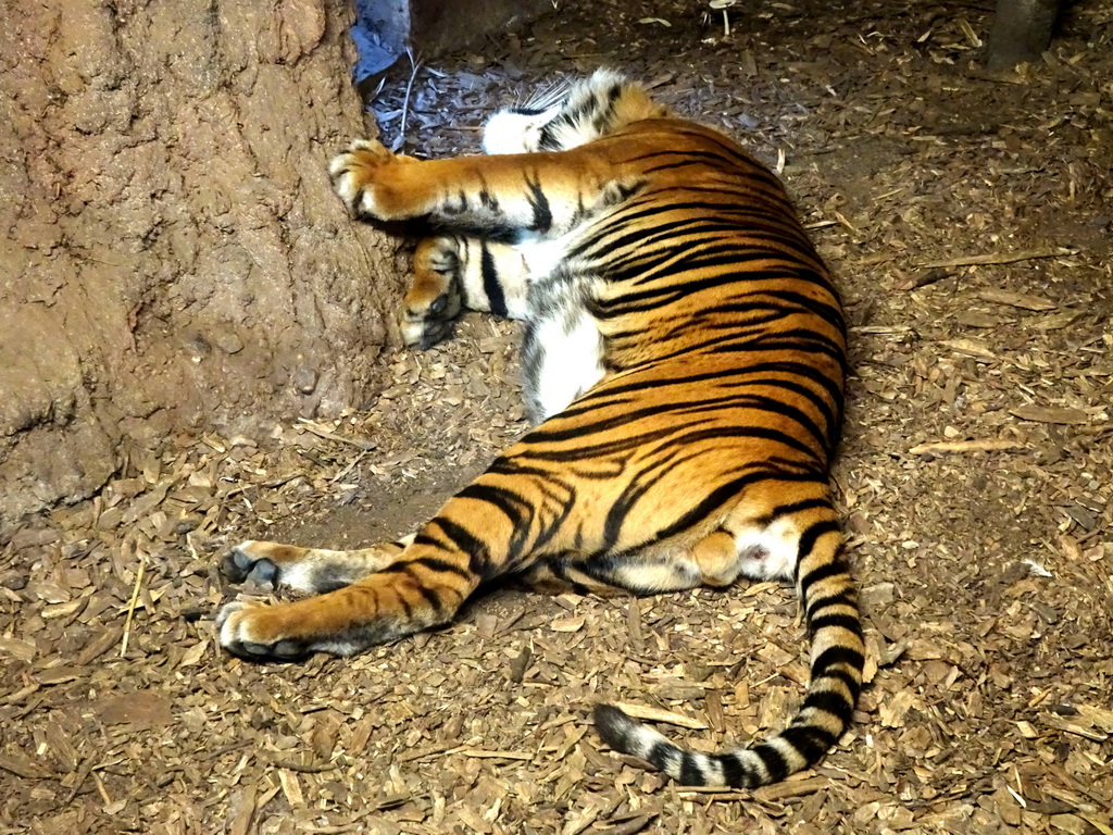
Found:
<svg viewBox="0 0 1113 835"><path fill-rule="evenodd" d="M374 394L402 269L328 183L347 0L6 6L0 534L129 445Z"/></svg>

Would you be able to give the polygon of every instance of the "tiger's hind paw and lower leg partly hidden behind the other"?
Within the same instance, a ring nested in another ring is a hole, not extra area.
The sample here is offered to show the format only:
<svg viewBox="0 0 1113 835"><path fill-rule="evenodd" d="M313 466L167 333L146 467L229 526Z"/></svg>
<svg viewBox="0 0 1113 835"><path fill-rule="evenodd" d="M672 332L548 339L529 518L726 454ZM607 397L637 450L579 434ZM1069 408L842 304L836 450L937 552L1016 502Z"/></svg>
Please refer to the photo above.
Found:
<svg viewBox="0 0 1113 835"><path fill-rule="evenodd" d="M224 556L220 570L232 582L249 579L303 595L322 595L381 571L394 562L411 541L413 537L354 551L331 551L248 540Z"/></svg>

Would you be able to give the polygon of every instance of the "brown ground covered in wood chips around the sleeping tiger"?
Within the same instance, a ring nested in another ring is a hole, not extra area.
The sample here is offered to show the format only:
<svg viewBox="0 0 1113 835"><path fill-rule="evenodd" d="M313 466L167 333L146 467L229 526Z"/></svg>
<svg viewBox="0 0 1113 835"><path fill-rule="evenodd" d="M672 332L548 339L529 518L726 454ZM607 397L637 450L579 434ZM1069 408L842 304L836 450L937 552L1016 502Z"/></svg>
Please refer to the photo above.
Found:
<svg viewBox="0 0 1113 835"><path fill-rule="evenodd" d="M991 6L755 0L726 35L679 0L560 2L375 104L407 153L475 149L499 101L607 63L782 170L853 325L869 684L818 768L692 792L587 721L657 707L703 749L779 727L807 656L767 583L499 591L352 660L219 651L229 541L406 532L524 430L518 332L471 315L385 357L368 411L169 439L6 532L0 835L1113 832L1113 10L1072 4L1044 62L988 78Z"/></svg>

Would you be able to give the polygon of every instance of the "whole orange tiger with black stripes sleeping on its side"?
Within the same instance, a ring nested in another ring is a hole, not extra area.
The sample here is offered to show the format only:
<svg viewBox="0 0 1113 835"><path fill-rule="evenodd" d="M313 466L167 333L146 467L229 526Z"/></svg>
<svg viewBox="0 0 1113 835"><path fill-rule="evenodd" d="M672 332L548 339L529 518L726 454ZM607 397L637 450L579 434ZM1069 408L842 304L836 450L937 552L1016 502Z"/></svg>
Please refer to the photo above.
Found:
<svg viewBox="0 0 1113 835"><path fill-rule="evenodd" d="M594 710L613 749L683 784L784 779L847 727L864 661L828 488L846 374L828 272L765 166L614 72L501 111L484 146L420 161L356 141L332 176L354 217L437 229L404 305L407 342L441 338L463 304L525 320L540 425L405 540L234 548L232 580L314 597L228 603L220 644L249 659L351 655L450 621L506 576L634 595L791 581L811 679L780 734L701 754Z"/></svg>

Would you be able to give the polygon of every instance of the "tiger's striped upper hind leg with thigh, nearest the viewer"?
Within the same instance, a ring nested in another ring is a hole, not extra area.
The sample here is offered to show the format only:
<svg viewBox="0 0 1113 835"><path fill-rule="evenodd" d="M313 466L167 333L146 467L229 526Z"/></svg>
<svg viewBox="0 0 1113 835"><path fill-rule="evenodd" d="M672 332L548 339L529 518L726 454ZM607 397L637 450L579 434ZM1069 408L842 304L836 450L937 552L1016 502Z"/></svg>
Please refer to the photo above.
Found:
<svg viewBox="0 0 1113 835"><path fill-rule="evenodd" d="M572 549L604 552L610 547L594 509L610 495L610 479L559 461L533 460L525 454L528 449L523 441L508 450L374 573L305 600L225 606L217 616L221 646L253 659L299 658L314 651L352 655L449 622L480 583L505 573L528 576L531 566L548 554ZM636 536L647 539L644 531ZM607 552L633 550L619 543ZM262 551L260 556L274 553ZM233 556L230 561L239 571L254 570L247 560ZM618 586L605 558L584 564L583 574L594 587ZM698 582L698 574L684 576L683 569L668 579L676 572L664 560L642 567L643 572L654 568L659 579L638 591Z"/></svg>

